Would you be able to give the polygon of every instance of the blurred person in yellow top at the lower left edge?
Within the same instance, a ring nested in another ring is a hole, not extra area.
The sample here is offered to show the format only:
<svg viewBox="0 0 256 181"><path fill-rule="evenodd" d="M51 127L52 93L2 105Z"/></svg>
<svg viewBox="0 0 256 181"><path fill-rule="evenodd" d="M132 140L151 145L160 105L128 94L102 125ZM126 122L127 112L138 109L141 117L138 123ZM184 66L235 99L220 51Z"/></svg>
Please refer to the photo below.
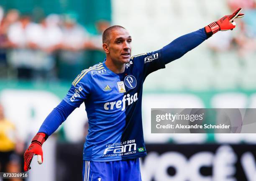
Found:
<svg viewBox="0 0 256 181"><path fill-rule="evenodd" d="M15 126L5 119L3 106L0 105L0 172L20 172L21 170L15 140ZM18 151L23 153L23 148ZM20 181L21 179L10 180Z"/></svg>

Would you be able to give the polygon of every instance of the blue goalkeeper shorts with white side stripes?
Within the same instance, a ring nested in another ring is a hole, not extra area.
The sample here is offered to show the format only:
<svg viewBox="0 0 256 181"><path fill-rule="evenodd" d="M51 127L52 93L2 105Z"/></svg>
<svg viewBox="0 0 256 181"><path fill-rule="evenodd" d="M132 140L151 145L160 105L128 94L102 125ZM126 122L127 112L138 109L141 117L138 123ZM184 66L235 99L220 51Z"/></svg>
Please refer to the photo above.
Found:
<svg viewBox="0 0 256 181"><path fill-rule="evenodd" d="M139 158L108 162L84 160L82 181L141 181Z"/></svg>

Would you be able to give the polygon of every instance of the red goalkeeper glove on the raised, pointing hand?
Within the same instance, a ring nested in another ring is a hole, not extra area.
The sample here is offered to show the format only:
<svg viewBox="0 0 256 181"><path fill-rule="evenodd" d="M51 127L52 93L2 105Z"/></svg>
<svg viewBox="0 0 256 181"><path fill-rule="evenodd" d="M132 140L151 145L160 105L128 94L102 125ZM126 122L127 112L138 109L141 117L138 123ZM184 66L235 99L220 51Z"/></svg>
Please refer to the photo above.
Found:
<svg viewBox="0 0 256 181"><path fill-rule="evenodd" d="M238 8L232 15L225 15L220 20L205 26L205 32L207 33L207 36L210 37L218 31L233 30L233 28L236 28L236 23L233 21L235 18L242 18L244 16L244 14L240 13L241 11L242 8Z"/></svg>

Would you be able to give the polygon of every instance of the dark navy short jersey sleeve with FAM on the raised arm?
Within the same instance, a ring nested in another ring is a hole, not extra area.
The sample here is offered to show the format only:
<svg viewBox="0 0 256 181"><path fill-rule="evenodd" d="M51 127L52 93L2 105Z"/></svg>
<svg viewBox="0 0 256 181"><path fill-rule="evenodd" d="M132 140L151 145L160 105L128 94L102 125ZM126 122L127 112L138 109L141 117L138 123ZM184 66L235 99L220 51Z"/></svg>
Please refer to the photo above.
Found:
<svg viewBox="0 0 256 181"><path fill-rule="evenodd" d="M153 51L147 54L140 54L131 57L136 68L143 74L144 79L148 74L165 68L165 62L162 59L162 50Z"/></svg>

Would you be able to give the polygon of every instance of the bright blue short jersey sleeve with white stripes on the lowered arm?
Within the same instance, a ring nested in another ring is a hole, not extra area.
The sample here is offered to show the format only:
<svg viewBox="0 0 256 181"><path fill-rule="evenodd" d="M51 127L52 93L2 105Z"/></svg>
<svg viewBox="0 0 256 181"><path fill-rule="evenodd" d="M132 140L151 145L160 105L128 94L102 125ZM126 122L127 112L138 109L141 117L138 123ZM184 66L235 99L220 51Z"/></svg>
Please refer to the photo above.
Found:
<svg viewBox="0 0 256 181"><path fill-rule="evenodd" d="M86 74L86 71L82 71L72 82L72 86L63 100L69 105L80 107L80 105L89 97L91 90L90 82L90 74Z"/></svg>

